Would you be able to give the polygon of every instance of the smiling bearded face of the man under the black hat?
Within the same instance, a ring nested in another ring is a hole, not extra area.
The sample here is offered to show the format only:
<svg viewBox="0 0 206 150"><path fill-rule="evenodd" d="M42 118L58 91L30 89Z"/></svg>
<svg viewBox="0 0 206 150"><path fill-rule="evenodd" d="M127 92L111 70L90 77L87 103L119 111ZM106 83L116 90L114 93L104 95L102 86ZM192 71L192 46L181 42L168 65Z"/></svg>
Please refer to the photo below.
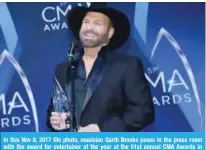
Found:
<svg viewBox="0 0 206 150"><path fill-rule="evenodd" d="M110 19L102 13L88 12L82 21L79 32L84 47L98 47L108 43L114 29Z"/></svg>

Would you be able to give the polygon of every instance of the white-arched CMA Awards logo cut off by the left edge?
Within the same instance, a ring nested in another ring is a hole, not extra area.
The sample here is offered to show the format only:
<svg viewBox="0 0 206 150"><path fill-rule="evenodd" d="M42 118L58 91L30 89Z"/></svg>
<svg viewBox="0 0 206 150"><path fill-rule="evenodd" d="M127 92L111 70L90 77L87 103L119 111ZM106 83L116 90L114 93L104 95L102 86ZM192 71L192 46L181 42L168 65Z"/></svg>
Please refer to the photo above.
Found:
<svg viewBox="0 0 206 150"><path fill-rule="evenodd" d="M8 60L9 63L13 66L13 68L18 73L21 82L23 83L23 86L25 88L26 94L29 99L30 105L28 105L28 100L23 99L19 91L15 91L13 96L11 98L8 98L5 93L0 93L0 127L1 129L6 128L14 128L17 126L23 126L23 125L31 125L33 124L34 119L34 125L35 125L35 131L39 131L39 125L38 125L38 116L37 116L37 110L35 105L34 96L31 90L31 87L29 85L28 79L17 62L17 60L7 51L4 50L0 54L0 66L3 64L5 60ZM26 103L27 102L27 103ZM31 109L29 109L31 108ZM23 115L16 113L16 112L24 112ZM33 116L31 116L32 114Z"/></svg>

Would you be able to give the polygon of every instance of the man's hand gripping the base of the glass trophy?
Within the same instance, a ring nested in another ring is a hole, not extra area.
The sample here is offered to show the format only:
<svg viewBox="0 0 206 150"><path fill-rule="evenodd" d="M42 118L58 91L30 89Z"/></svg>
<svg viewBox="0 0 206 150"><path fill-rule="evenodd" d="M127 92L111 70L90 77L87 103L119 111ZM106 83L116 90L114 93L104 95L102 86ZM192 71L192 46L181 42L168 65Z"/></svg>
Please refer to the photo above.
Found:
<svg viewBox="0 0 206 150"><path fill-rule="evenodd" d="M51 126L55 130L63 130L69 128L65 123L68 117L68 113L52 112L50 117Z"/></svg>

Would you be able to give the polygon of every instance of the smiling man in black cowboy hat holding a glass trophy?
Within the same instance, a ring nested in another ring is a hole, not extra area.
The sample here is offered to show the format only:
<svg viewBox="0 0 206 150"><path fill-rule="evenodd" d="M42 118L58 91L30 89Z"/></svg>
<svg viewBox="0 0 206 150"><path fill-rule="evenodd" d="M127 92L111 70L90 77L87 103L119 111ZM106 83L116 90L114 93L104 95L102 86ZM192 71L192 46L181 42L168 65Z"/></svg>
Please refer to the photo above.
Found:
<svg viewBox="0 0 206 150"><path fill-rule="evenodd" d="M128 18L106 3L90 8L74 8L68 22L83 46L75 77L75 122L78 132L138 131L154 121L154 106L143 67L134 56L113 50L130 34ZM65 79L68 62L60 64L55 78L67 96ZM69 78L68 76L66 78ZM65 130L66 113L53 112L49 123L54 130Z"/></svg>

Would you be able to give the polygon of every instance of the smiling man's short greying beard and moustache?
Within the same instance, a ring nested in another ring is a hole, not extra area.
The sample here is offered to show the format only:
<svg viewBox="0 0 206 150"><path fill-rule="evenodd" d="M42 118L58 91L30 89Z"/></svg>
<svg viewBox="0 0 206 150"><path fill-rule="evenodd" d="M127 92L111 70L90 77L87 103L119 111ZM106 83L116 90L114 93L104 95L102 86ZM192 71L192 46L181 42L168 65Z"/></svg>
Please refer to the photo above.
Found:
<svg viewBox="0 0 206 150"><path fill-rule="evenodd" d="M84 38L83 36L85 36L85 34L93 34L95 36L95 39ZM98 34L93 31L84 31L83 33L80 33L80 41L82 45L86 48L99 47L103 44L107 44L108 33Z"/></svg>

